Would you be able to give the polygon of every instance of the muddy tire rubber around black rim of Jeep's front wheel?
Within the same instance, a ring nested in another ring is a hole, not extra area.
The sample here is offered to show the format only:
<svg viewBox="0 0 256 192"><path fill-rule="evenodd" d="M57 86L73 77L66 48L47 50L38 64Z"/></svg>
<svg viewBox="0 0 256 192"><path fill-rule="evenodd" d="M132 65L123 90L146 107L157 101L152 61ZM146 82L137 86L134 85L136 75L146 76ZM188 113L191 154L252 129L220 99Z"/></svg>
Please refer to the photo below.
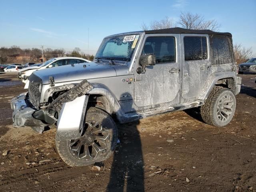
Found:
<svg viewBox="0 0 256 192"><path fill-rule="evenodd" d="M101 162L108 159L116 148L118 140L118 130L114 120L103 110L90 107L86 112L85 122L96 120L104 124L105 128L110 133L110 141L106 150L94 160L79 160L74 157L70 151L69 140L58 140L56 138L56 148L62 160L69 166L87 166L96 162ZM107 126L106 126L107 125Z"/></svg>

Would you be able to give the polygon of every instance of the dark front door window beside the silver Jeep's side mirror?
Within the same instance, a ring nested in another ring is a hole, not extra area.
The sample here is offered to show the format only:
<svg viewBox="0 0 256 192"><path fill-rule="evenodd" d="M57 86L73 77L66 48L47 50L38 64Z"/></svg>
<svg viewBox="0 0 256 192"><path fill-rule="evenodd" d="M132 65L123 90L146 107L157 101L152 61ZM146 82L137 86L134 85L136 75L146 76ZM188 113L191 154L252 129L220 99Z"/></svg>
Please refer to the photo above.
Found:
<svg viewBox="0 0 256 192"><path fill-rule="evenodd" d="M142 54L155 54L156 64L175 62L175 38L148 37L144 44Z"/></svg>

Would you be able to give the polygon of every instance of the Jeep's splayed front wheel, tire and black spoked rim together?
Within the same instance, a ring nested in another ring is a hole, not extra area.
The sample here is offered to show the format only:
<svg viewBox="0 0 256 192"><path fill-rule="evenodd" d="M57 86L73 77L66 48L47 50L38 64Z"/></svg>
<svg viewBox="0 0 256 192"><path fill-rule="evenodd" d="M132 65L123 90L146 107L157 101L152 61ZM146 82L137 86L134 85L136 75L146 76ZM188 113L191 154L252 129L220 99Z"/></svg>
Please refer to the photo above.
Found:
<svg viewBox="0 0 256 192"><path fill-rule="evenodd" d="M58 140L56 148L69 166L86 166L108 159L116 148L118 130L114 120L104 111L91 107L86 112L82 136Z"/></svg>

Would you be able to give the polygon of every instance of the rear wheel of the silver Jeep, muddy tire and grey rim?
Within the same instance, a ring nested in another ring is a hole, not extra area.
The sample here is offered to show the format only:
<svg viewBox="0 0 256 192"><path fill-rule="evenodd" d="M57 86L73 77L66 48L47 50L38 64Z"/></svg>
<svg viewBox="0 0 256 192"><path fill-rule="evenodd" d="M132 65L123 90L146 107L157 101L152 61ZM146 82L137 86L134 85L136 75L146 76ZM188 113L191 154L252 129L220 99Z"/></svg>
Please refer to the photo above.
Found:
<svg viewBox="0 0 256 192"><path fill-rule="evenodd" d="M236 98L228 88L215 86L206 103L201 106L201 116L207 124L222 127L227 125L236 110Z"/></svg>

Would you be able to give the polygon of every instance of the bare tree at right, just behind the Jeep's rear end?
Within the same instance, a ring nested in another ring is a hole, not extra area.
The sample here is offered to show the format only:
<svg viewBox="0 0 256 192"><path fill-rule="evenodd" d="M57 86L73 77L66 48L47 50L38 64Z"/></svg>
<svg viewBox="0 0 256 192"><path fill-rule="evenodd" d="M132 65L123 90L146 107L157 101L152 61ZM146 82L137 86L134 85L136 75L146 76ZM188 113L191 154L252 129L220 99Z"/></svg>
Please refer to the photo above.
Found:
<svg viewBox="0 0 256 192"><path fill-rule="evenodd" d="M245 48L242 44L234 44L233 50L237 64L246 62L253 56L252 48Z"/></svg>

